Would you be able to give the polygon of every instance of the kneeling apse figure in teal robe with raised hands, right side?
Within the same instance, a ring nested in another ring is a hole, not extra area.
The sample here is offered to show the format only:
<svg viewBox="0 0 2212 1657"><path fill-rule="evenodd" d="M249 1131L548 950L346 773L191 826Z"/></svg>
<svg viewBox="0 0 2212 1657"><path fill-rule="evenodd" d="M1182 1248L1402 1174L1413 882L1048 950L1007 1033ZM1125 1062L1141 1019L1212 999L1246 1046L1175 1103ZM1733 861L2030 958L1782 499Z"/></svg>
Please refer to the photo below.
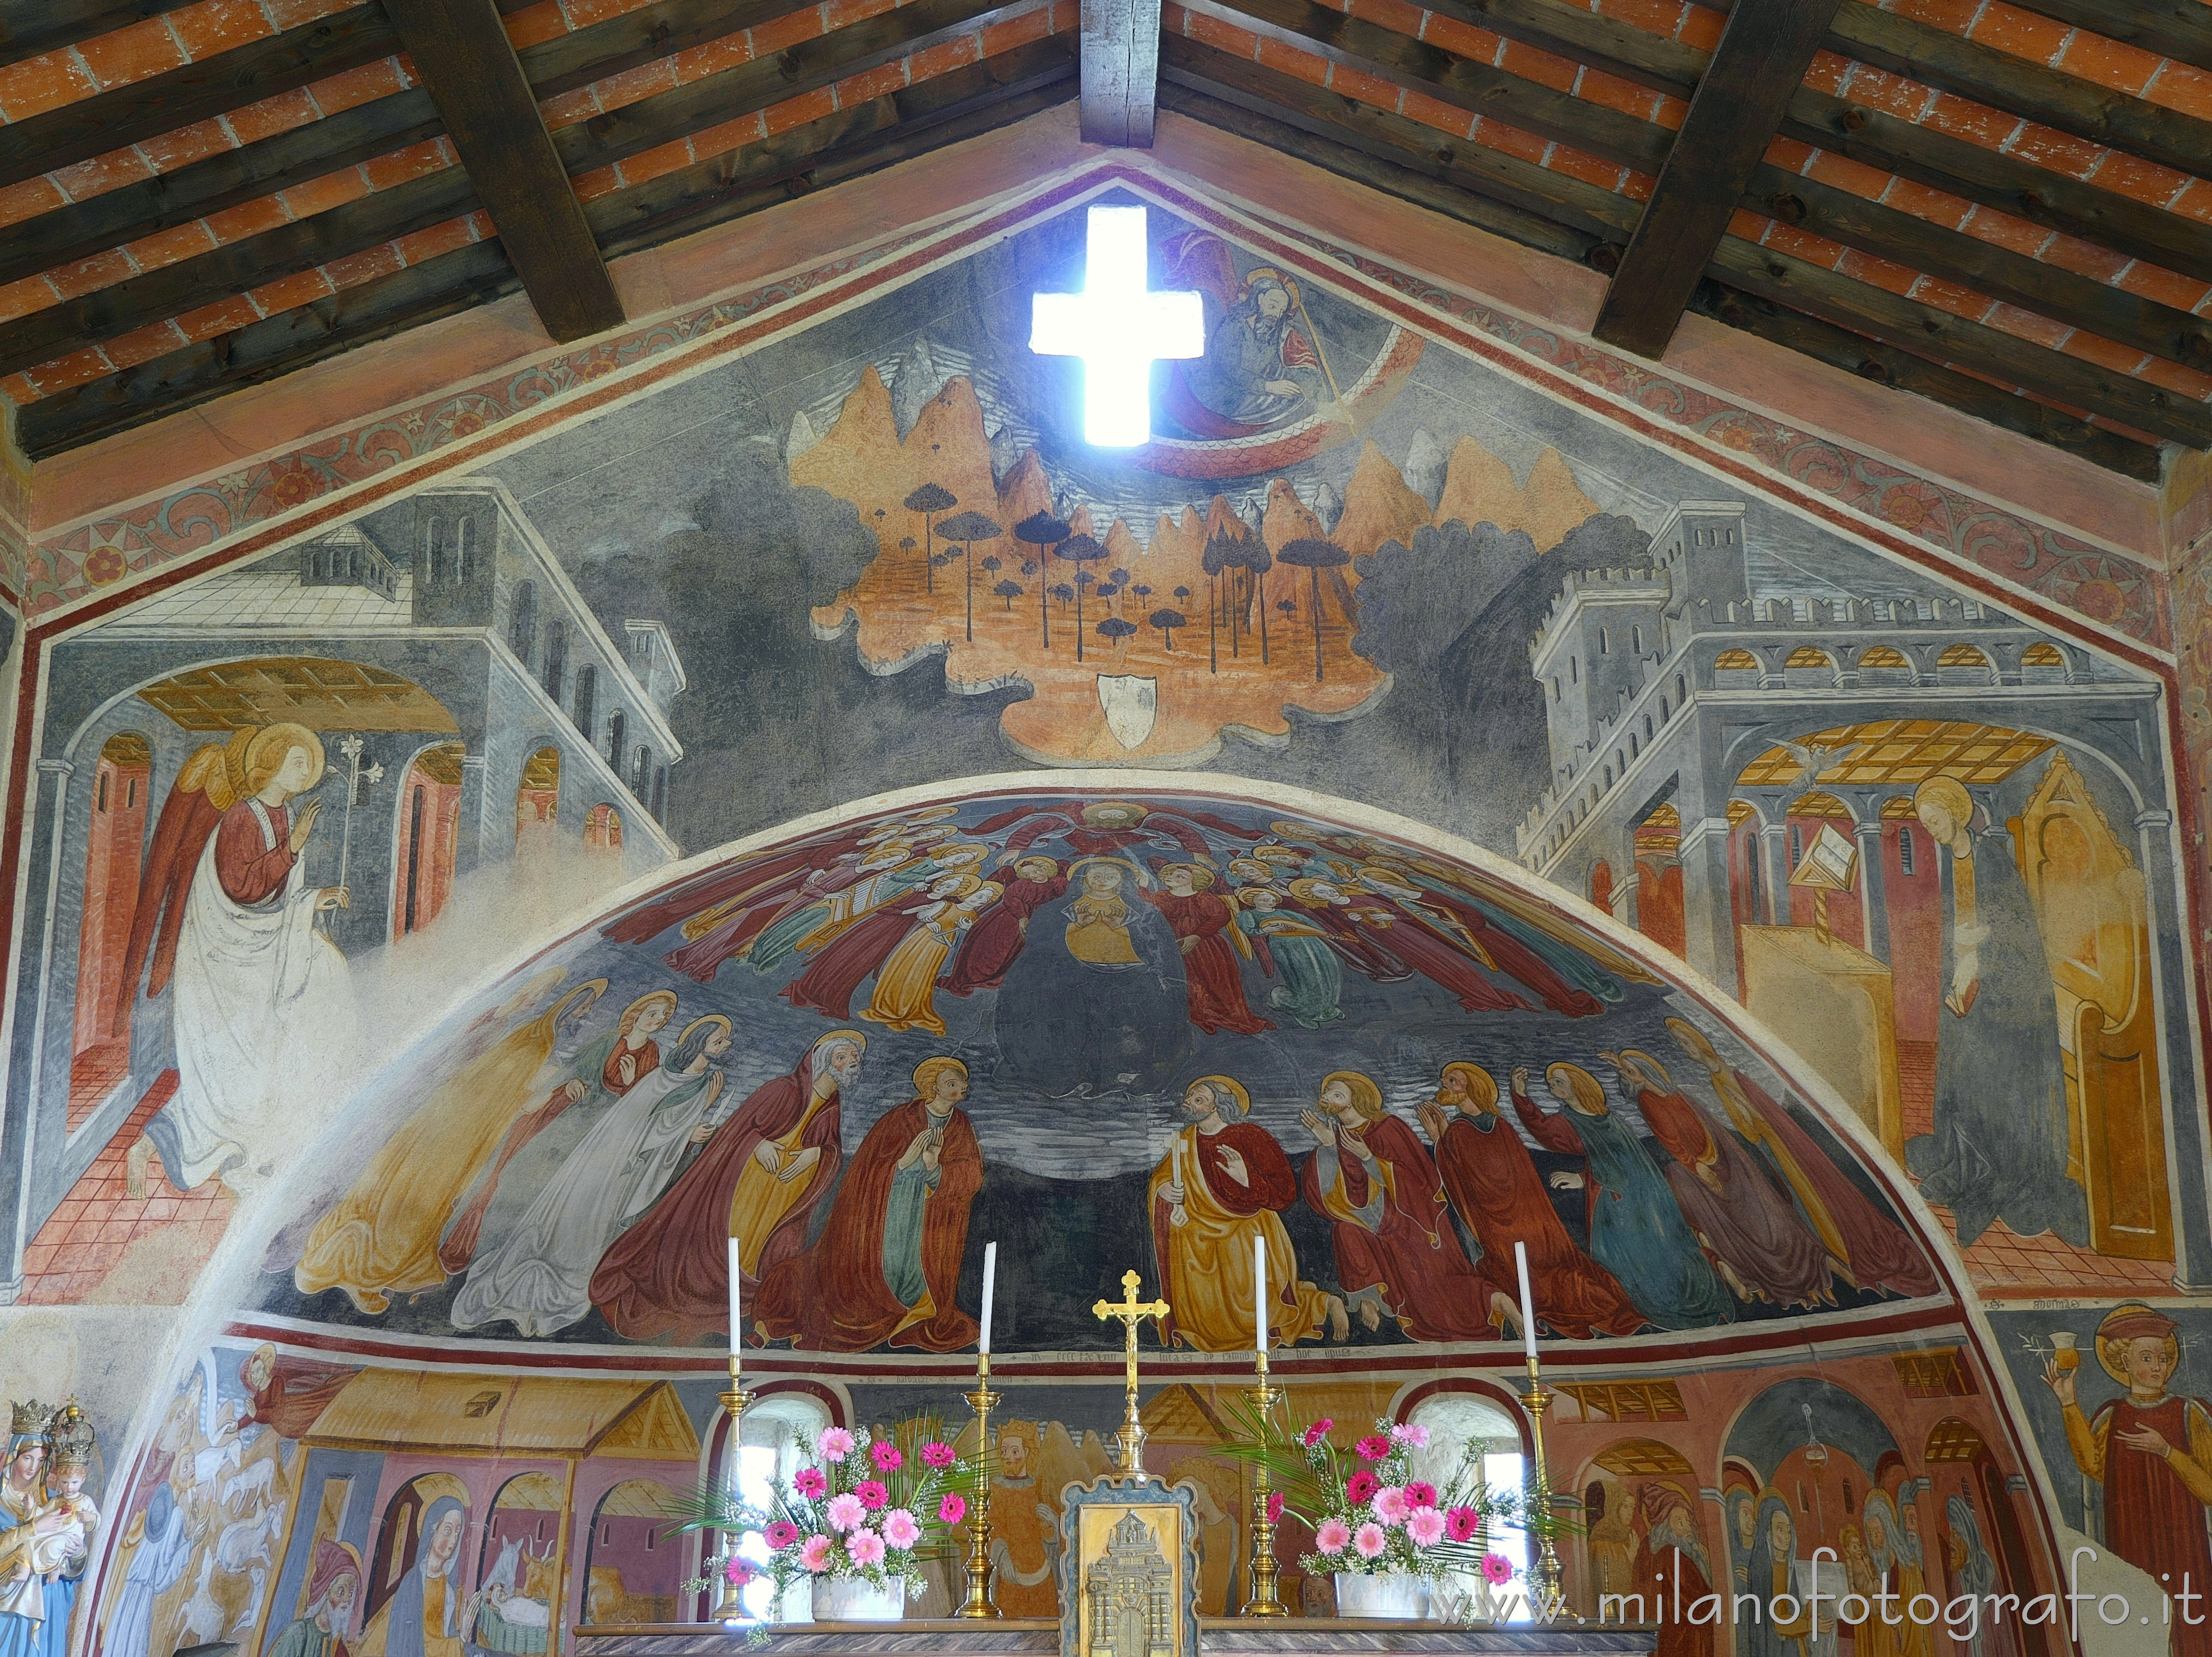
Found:
<svg viewBox="0 0 2212 1657"><path fill-rule="evenodd" d="M1546 1150L1579 1155L1579 1175L1553 1175L1582 1186L1590 1217L1590 1254L1628 1290L1637 1310L1661 1330L1734 1323L1736 1307L1674 1203L1644 1139L1606 1104L1606 1088L1579 1064L1553 1064L1544 1086L1559 1115L1528 1100L1528 1071L1513 1071L1513 1115Z"/></svg>

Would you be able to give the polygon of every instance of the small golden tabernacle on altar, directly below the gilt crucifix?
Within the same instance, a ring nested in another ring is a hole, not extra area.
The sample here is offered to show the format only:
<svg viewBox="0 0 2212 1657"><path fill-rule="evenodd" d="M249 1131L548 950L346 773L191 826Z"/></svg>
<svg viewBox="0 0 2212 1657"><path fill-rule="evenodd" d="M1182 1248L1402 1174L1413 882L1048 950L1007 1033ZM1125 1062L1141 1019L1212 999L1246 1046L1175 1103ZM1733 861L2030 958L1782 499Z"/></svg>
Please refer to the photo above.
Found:
<svg viewBox="0 0 2212 1657"><path fill-rule="evenodd" d="M1060 1502L1060 1657L1199 1657L1190 1487L1106 1476Z"/></svg>

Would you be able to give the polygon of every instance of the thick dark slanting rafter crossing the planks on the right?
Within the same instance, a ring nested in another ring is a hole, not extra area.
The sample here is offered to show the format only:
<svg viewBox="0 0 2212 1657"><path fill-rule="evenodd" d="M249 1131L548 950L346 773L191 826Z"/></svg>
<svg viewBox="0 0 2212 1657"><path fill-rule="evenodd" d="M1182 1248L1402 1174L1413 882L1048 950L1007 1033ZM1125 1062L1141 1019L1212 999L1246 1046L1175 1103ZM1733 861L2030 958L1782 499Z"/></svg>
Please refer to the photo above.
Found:
<svg viewBox="0 0 2212 1657"><path fill-rule="evenodd" d="M1736 0L1590 332L1659 358L1690 308L1836 0Z"/></svg>

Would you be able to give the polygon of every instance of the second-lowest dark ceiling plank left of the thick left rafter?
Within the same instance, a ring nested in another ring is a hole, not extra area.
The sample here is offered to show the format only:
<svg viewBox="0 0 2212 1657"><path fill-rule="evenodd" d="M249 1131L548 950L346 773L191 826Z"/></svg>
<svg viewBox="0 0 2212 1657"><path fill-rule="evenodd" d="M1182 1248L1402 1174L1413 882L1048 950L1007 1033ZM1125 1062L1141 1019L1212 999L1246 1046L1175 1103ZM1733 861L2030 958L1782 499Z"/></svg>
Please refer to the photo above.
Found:
<svg viewBox="0 0 2212 1657"><path fill-rule="evenodd" d="M414 230L458 219L476 204L476 181L458 166L449 166L33 310L0 325L0 374L46 363L62 352L128 334L228 294L243 294L296 270L378 248Z"/></svg>

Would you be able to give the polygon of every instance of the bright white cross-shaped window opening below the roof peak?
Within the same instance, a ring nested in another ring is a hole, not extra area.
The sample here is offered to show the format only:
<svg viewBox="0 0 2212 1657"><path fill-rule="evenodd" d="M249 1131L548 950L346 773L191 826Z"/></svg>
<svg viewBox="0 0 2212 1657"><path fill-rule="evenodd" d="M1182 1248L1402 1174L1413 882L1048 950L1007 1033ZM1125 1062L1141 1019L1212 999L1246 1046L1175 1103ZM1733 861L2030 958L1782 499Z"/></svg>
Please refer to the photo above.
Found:
<svg viewBox="0 0 2212 1657"><path fill-rule="evenodd" d="M1084 361L1084 440L1135 449L1152 440L1152 363L1206 354L1197 292L1146 288L1144 208L1091 208L1079 294L1035 294L1029 350Z"/></svg>

